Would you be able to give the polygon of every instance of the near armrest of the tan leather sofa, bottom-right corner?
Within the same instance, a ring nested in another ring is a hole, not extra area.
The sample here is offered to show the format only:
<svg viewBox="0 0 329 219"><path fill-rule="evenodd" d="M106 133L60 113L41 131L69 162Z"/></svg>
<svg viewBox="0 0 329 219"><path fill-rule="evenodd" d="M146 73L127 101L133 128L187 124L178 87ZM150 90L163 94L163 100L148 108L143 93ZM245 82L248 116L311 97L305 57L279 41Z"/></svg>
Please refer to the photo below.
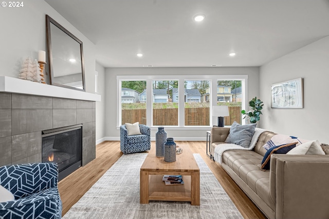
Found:
<svg viewBox="0 0 329 219"><path fill-rule="evenodd" d="M271 155L270 195L276 218L328 218L328 155Z"/></svg>

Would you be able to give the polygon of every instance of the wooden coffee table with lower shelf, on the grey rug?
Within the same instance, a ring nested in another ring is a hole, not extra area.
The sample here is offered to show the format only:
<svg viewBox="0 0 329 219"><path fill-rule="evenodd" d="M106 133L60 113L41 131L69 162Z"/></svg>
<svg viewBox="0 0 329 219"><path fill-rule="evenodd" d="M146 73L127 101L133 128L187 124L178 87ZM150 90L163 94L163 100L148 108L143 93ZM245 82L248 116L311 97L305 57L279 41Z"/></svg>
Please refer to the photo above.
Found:
<svg viewBox="0 0 329 219"><path fill-rule="evenodd" d="M200 170L188 145L179 145L183 149L176 155L176 161L165 162L163 157L155 156L155 147L151 147L140 168L140 203L149 201L191 202L200 205ZM166 186L163 175L182 175L184 185Z"/></svg>

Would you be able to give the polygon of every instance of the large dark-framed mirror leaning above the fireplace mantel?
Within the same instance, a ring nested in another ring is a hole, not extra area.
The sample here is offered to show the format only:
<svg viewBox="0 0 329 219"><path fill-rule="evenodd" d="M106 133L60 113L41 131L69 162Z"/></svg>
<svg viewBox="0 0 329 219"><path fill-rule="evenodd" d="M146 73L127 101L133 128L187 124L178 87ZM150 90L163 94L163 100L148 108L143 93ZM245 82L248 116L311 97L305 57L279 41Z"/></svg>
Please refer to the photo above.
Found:
<svg viewBox="0 0 329 219"><path fill-rule="evenodd" d="M85 91L82 42L46 15L50 84Z"/></svg>

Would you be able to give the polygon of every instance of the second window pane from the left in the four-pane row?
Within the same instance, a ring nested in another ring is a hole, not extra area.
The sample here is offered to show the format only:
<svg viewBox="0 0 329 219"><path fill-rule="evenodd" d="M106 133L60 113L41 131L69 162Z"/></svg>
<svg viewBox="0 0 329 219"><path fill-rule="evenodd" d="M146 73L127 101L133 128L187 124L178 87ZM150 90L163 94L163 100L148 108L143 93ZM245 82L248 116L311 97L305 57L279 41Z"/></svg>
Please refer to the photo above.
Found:
<svg viewBox="0 0 329 219"><path fill-rule="evenodd" d="M154 126L178 126L177 93L178 81L152 81Z"/></svg>

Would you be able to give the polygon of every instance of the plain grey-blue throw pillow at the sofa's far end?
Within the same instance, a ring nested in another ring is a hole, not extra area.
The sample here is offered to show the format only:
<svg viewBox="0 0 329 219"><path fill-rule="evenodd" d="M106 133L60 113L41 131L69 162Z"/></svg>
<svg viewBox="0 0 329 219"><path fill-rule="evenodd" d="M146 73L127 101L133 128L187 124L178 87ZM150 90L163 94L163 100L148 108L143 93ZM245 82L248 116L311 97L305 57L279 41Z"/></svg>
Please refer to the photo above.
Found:
<svg viewBox="0 0 329 219"><path fill-rule="evenodd" d="M234 122L230 128L230 133L225 142L240 145L244 148L249 148L253 133L255 132L256 123L248 125L240 125Z"/></svg>

